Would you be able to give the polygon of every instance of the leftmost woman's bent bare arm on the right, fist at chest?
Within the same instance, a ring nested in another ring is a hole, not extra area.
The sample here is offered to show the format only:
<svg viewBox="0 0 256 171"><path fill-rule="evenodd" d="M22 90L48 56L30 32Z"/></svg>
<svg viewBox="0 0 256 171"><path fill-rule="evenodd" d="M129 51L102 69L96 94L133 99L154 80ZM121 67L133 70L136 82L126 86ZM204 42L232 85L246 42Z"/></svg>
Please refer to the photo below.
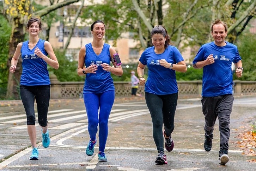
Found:
<svg viewBox="0 0 256 171"><path fill-rule="evenodd" d="M59 63L58 60L56 58L56 55L53 51L53 47L51 46L51 44L48 41L44 42L44 49L45 51L49 54L48 58L47 56L45 56L42 51L36 47L35 49L35 54L39 57L42 58L47 64L49 64L51 67L55 68L56 70L59 68Z"/></svg>

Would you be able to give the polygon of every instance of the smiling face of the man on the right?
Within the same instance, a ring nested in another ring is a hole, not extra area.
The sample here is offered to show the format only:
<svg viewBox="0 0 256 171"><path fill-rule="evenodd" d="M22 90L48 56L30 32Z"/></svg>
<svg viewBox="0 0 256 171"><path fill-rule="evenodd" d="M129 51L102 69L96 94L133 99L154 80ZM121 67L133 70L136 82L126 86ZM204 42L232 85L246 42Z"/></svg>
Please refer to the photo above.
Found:
<svg viewBox="0 0 256 171"><path fill-rule="evenodd" d="M227 32L225 31L225 27L222 24L216 24L213 26L212 37L216 45L223 44L226 36Z"/></svg>

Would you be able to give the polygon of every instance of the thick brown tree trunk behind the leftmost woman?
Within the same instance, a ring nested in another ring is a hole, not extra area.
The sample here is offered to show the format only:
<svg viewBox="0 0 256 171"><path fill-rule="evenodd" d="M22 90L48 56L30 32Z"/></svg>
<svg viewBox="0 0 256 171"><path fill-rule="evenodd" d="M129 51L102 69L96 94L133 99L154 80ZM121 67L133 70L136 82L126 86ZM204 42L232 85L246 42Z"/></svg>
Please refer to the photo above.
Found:
<svg viewBox="0 0 256 171"><path fill-rule="evenodd" d="M14 21L20 21L20 19L14 18ZM11 67L11 60L16 51L16 47L18 43L24 41L23 24L18 22L17 27L15 27L15 24L13 24L13 28L14 29L12 31L11 39L10 39L7 68ZM22 74L22 59L20 57L17 63L16 71L14 73L9 72L9 75L8 75L8 84L7 84L7 93L6 93L6 96L8 99L10 98L20 99L19 83L20 83L21 74Z"/></svg>

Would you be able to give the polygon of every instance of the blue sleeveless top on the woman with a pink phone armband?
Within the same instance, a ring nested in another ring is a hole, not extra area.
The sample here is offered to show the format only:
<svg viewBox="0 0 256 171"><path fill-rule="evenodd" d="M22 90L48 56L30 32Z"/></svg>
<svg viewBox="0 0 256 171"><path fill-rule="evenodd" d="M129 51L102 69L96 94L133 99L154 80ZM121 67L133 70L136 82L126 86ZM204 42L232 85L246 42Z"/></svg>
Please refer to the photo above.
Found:
<svg viewBox="0 0 256 171"><path fill-rule="evenodd" d="M98 70L96 74L87 73L85 77L83 93L103 93L109 90L115 90L113 79L110 72L104 71L101 64L106 63L110 65L109 44L103 45L103 49L97 55L92 48L92 44L86 44L85 66L96 64Z"/></svg>

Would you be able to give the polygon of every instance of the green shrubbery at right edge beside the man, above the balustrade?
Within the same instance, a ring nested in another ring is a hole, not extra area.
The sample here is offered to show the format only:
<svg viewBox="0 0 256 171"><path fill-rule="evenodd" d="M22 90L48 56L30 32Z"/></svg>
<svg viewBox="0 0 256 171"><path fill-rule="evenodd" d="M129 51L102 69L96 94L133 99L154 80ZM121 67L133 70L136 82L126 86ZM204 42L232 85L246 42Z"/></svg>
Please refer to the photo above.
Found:
<svg viewBox="0 0 256 171"><path fill-rule="evenodd" d="M255 34L244 32L238 37L237 47L240 56L242 57L243 63L243 76L242 78L237 78L236 75L233 75L234 79L255 81L256 80L256 37Z"/></svg>

